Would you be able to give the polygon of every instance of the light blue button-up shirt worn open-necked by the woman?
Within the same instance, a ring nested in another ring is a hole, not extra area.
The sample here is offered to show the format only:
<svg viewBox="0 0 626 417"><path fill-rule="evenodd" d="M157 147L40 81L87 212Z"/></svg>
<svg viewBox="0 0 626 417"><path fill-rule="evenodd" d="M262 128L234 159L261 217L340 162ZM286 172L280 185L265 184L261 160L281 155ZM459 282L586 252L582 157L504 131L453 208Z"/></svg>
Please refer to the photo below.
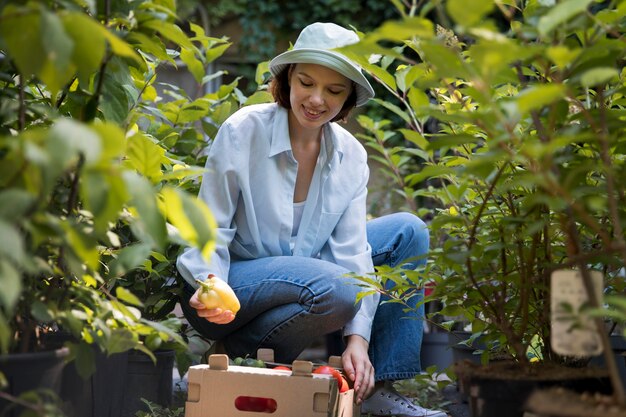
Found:
<svg viewBox="0 0 626 417"><path fill-rule="evenodd" d="M298 163L287 116L274 103L244 107L216 135L199 197L217 222L217 247L208 264L193 248L177 260L178 270L194 287L195 278L209 273L228 280L231 258L307 256L358 274L374 271L365 229L367 153L336 123L324 126L299 232L290 244ZM369 341L378 299L362 300L345 336L358 334Z"/></svg>

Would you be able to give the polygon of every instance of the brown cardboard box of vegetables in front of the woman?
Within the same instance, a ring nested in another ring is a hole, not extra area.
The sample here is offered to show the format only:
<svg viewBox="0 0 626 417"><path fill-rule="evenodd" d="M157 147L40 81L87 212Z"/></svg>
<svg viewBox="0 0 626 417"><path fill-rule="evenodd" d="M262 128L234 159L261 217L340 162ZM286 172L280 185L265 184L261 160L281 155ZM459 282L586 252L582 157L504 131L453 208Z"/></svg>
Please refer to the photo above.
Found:
<svg viewBox="0 0 626 417"><path fill-rule="evenodd" d="M336 359L329 364L338 368ZM282 371L229 365L228 356L211 355L208 365L189 368L185 417L360 416L353 389L340 393L335 378L312 370L308 361Z"/></svg>

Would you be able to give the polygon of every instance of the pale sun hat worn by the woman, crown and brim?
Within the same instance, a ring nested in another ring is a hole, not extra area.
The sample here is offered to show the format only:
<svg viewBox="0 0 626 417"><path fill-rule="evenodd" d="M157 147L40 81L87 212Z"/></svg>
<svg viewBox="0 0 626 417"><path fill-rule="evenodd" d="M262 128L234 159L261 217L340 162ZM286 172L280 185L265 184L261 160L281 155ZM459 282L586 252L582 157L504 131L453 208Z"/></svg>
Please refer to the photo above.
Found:
<svg viewBox="0 0 626 417"><path fill-rule="evenodd" d="M351 45L359 36L334 23L313 23L302 29L300 36L289 51L270 61L270 72L277 76L289 64L318 64L337 71L354 81L356 105L362 106L374 97L374 89L363 75L361 67L334 48Z"/></svg>

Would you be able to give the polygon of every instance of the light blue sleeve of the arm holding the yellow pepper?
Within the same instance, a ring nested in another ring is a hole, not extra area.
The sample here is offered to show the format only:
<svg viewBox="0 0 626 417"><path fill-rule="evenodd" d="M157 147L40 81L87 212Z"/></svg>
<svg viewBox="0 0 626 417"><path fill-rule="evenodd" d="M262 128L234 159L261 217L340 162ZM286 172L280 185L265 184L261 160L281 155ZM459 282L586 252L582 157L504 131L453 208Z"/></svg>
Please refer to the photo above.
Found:
<svg viewBox="0 0 626 417"><path fill-rule="evenodd" d="M209 273L228 281L228 246L236 232L232 220L240 193L236 174L237 149L230 126L222 125L209 149L198 195L209 206L217 223L215 252L207 263L198 249L186 248L176 261L178 271L194 287L197 286L196 278L204 280Z"/></svg>

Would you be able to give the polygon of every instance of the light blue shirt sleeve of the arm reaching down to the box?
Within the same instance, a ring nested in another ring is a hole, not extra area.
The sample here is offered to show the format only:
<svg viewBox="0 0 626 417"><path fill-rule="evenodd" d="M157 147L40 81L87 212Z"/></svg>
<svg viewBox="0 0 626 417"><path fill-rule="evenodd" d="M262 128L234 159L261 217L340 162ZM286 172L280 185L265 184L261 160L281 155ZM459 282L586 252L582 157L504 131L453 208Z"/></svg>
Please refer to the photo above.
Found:
<svg viewBox="0 0 626 417"><path fill-rule="evenodd" d="M366 229L368 178L369 169L365 165L363 174L360 175L361 183L354 198L342 214L320 254L322 259L334 262L360 275L374 271L372 249L367 243ZM369 342L379 299L380 295L376 293L361 300L361 307L357 314L344 327L344 336L357 334Z"/></svg>

